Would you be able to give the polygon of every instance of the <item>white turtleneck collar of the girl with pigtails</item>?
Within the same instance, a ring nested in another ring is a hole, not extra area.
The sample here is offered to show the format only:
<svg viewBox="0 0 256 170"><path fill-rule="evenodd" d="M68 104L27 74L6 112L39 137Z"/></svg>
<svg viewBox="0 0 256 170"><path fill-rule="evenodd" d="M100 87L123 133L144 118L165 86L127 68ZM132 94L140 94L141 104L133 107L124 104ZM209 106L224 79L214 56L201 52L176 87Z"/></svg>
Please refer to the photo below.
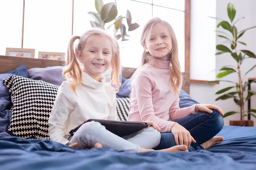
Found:
<svg viewBox="0 0 256 170"><path fill-rule="evenodd" d="M105 77L102 75L100 77L101 82L96 81L92 77L90 77L87 73L82 71L82 84L90 86L92 88L101 88L105 85Z"/></svg>

